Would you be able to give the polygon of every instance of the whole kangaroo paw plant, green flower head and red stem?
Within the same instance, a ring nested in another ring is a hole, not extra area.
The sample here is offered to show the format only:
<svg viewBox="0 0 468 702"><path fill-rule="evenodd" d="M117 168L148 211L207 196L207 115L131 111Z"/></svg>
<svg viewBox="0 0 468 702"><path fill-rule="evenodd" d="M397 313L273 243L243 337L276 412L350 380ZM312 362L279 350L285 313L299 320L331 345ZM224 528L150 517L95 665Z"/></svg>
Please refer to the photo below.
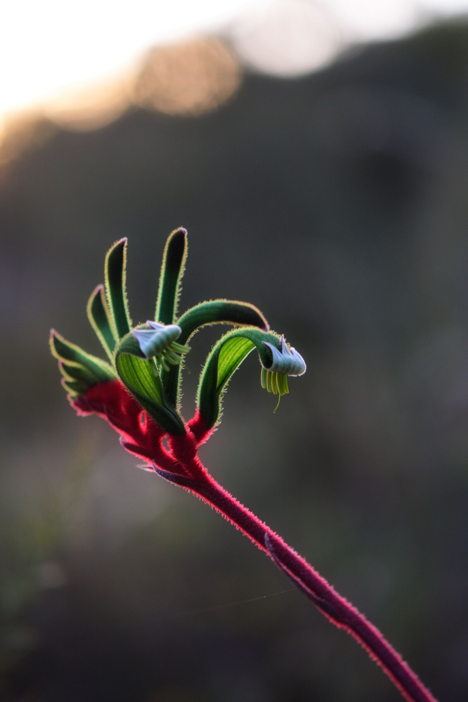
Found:
<svg viewBox="0 0 468 702"><path fill-rule="evenodd" d="M105 418L119 433L123 448L145 461L145 470L192 492L246 534L330 622L368 651L406 700L436 702L380 631L220 486L200 461L199 446L220 424L227 385L250 352L258 353L262 387L279 398L289 392L288 376L305 373L302 356L284 336L270 331L262 312L248 303L210 300L177 317L187 258L187 232L182 228L166 242L154 321L132 327L126 245L126 239L121 239L109 250L105 286L98 286L88 301L88 317L109 362L51 332L51 351L58 359L69 402L80 416L95 413ZM230 324L234 329L208 354L196 411L186 421L180 413L181 371L189 340L208 324Z"/></svg>

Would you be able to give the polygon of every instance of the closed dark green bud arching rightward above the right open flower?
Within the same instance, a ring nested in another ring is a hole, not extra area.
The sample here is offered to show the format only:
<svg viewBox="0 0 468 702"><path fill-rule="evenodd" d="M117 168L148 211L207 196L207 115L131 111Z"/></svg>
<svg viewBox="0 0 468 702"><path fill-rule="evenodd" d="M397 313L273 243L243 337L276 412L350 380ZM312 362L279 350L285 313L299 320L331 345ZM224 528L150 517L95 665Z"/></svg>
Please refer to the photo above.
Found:
<svg viewBox="0 0 468 702"><path fill-rule="evenodd" d="M209 300L199 303L184 312L177 320L181 334L178 342L182 345L192 338L202 326L211 324L233 324L234 326L254 326L268 331L269 324L262 312L250 303L239 300ZM180 399L180 366L161 373L168 401L177 407Z"/></svg>

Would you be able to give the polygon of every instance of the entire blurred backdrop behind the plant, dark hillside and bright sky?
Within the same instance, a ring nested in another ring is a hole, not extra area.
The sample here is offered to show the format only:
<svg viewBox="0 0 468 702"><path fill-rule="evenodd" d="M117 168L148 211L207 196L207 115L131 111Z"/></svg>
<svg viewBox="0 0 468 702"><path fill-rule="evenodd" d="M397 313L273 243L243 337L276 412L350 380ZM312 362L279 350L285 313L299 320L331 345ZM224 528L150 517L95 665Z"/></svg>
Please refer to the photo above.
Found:
<svg viewBox="0 0 468 702"><path fill-rule="evenodd" d="M209 470L467 699L464 11L2 7L2 700L399 699L246 538L67 404L49 329L100 353L86 301L124 236L151 317L180 225L181 310L248 300L308 365L274 414L249 357ZM186 417L221 332L194 339Z"/></svg>

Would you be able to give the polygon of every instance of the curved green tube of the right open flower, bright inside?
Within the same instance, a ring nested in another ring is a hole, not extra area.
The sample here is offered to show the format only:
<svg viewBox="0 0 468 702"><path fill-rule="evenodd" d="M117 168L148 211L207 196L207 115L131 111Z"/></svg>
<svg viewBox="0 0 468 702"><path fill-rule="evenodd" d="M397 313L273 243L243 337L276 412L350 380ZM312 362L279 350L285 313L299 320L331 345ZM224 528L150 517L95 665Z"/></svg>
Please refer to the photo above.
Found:
<svg viewBox="0 0 468 702"><path fill-rule="evenodd" d="M197 405L208 429L219 422L222 395L243 359L256 348L262 365L271 366L273 355L270 347L281 350L279 336L252 327L233 329L215 344L201 371L197 395Z"/></svg>

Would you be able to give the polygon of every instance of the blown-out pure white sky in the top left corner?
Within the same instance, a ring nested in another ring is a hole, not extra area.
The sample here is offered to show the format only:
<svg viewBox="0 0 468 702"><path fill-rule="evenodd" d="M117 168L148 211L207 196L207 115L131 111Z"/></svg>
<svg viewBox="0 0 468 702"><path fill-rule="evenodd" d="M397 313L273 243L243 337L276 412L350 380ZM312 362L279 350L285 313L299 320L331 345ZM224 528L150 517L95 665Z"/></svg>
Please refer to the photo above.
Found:
<svg viewBox="0 0 468 702"><path fill-rule="evenodd" d="M11 0L2 4L0 113L126 67L152 44L216 29L248 0Z"/></svg>

